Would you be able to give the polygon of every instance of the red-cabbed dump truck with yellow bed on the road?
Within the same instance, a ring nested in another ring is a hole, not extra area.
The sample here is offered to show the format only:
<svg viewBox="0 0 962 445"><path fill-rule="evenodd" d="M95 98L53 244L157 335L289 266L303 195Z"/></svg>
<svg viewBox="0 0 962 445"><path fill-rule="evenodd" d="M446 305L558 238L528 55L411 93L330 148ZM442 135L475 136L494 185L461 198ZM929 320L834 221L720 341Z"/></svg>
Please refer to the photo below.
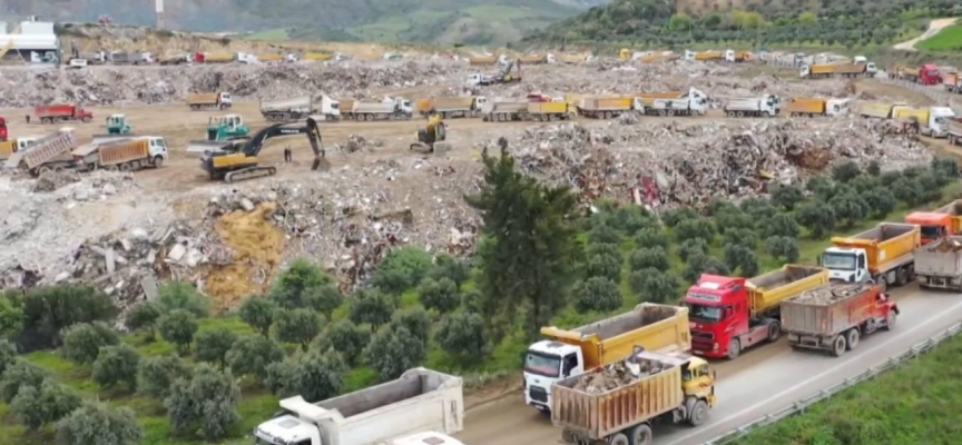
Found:
<svg viewBox="0 0 962 445"><path fill-rule="evenodd" d="M777 340L782 301L826 283L828 270L801 265L752 278L703 274L684 299L691 320L691 352L734 359L752 346Z"/></svg>

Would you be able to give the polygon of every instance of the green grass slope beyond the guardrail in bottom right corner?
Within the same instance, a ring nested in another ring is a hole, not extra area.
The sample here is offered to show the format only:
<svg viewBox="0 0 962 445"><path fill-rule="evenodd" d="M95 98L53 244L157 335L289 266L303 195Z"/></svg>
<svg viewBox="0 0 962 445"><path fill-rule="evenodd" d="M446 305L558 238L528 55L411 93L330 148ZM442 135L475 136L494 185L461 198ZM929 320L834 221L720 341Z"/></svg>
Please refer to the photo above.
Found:
<svg viewBox="0 0 962 445"><path fill-rule="evenodd" d="M962 337L733 444L954 444Z"/></svg>

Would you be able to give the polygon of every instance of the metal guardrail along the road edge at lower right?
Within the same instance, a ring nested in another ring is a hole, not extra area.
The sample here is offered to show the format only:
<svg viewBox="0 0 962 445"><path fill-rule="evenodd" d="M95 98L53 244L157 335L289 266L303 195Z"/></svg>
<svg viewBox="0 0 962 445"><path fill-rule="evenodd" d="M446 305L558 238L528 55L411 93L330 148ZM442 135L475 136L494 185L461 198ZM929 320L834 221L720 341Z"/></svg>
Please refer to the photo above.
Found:
<svg viewBox="0 0 962 445"><path fill-rule="evenodd" d="M832 396L834 396L834 395L836 395L836 394L838 394L838 393L841 393L847 388L851 388L852 386L855 386L858 383L874 378L886 370L891 370L891 369L899 367L900 365L902 365L903 363L905 363L909 359L915 358L922 354L925 354L925 353L932 350L940 343L942 343L949 338L954 337L959 333L962 333L962 322L952 325L952 327L943 330L942 333L939 333L939 334L930 337L929 339L926 339L924 342L915 344L909 350L906 350L906 352L904 352L897 356L889 358L885 363L883 363L878 366L871 367L871 368L866 369L865 372L863 372L862 374L858 374L855 377L846 378L844 382L842 382L835 386L831 386L828 388L822 389L821 392L818 392L818 394L815 394L811 397L797 400L797 402L793 403L792 405L788 405L782 409L778 409L774 413L770 413L770 414L768 414L768 415L766 415L759 419L756 419L754 422L749 422L745 425L742 425L737 429L733 429L733 431L725 433L718 437L715 437L708 442L705 442L703 445L732 444L735 441L737 441L737 439L746 436L747 434L754 432L755 429L775 424L775 423L777 423L777 422L779 422L786 417L791 417L795 414L804 413L805 409L807 409L809 406L812 406L818 402L828 399Z"/></svg>

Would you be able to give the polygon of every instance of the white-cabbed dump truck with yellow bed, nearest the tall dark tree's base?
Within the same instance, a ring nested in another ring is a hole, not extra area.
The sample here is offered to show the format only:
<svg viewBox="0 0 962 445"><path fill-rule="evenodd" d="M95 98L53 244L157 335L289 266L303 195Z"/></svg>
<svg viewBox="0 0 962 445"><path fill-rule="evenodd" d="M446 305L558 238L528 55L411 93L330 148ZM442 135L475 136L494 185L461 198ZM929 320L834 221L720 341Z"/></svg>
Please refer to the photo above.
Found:
<svg viewBox="0 0 962 445"><path fill-rule="evenodd" d="M551 385L628 357L635 346L648 350L688 350L688 308L642 303L635 309L571 330L542 327L547 340L528 347L524 403L542 412L554 406Z"/></svg>

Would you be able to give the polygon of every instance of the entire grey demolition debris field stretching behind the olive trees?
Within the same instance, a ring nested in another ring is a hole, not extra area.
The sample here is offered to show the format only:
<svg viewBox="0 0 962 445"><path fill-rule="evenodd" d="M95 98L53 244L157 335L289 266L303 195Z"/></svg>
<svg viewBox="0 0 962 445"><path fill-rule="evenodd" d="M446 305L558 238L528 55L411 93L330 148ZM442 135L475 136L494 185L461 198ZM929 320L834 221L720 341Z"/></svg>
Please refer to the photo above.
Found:
<svg viewBox="0 0 962 445"><path fill-rule="evenodd" d="M757 195L768 180L803 179L846 159L880 160L886 169L926 164L933 151L881 121L844 118L622 118L565 123L449 119L453 150L414 154L409 145L423 119L327 122L323 144L333 169L310 170L303 136L275 138L261 162L275 177L225 185L210 181L185 152L203 139L208 118L238 113L256 131L267 122L258 99L325 92L335 98L418 99L429 96L520 97L532 92L641 92L695 87L715 102L774 93L912 100L873 81L802 81L794 70L678 61L664 65L599 61L523 68L524 81L467 89L477 67L454 61L349 61L332 66L92 67L81 71L0 70L0 112L11 137L43 135L55 126L26 125L29 106L75 102L92 110L90 123L70 125L81 142L105 132L104 119L125 113L140 136L163 136L170 159L132 175L66 174L40 180L0 175L0 255L3 287L78 281L129 301L155 283L194 279L222 308L263 290L281 265L306 256L345 287L363 280L392 245L432 253L470 253L479 226L463 195L481 180L480 154L504 137L519 167L569 184L582 202L632 200L650 178L667 204L697 205L711 196ZM613 87L612 87L613 86ZM189 111L189 92L229 91L225 111ZM922 105L922 103L919 103ZM291 147L292 164L283 162ZM497 150L494 150L497 152ZM644 195L644 194L642 194ZM225 215L238 210L246 217ZM238 236L238 234L245 234Z"/></svg>

